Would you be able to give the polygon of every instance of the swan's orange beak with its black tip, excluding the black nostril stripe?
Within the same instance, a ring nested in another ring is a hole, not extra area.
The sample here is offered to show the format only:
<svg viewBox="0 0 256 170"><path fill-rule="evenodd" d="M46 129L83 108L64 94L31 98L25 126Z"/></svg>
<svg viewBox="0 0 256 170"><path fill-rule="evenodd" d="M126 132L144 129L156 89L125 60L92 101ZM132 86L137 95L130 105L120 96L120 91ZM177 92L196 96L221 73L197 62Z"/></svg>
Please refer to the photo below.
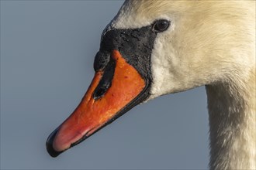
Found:
<svg viewBox="0 0 256 170"><path fill-rule="evenodd" d="M104 71L95 73L81 103L47 139L47 151L52 157L57 157L61 152L77 145L130 110L135 106L134 101L147 87L140 73L126 63L117 50L113 50L111 57L116 63L111 86L101 97L94 97Z"/></svg>

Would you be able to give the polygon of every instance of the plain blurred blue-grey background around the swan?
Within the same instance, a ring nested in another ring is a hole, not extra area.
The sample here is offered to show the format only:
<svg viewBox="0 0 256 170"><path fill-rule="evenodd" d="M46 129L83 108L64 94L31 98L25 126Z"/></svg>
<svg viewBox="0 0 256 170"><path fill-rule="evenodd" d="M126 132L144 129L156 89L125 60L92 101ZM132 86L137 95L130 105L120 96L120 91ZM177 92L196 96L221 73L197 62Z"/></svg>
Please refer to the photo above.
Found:
<svg viewBox="0 0 256 170"><path fill-rule="evenodd" d="M1 1L1 169L206 169L204 87L150 100L57 158L45 141L94 75L123 1Z"/></svg>

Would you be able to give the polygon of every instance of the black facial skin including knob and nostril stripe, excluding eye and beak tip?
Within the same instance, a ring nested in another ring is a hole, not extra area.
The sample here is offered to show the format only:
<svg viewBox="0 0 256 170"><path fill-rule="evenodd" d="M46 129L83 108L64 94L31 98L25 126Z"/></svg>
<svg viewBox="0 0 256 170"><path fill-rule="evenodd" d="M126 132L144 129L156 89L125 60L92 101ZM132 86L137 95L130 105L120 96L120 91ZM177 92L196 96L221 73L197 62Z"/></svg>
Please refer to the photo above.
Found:
<svg viewBox="0 0 256 170"><path fill-rule="evenodd" d="M145 100L149 96L151 82L150 56L156 36L157 32L154 32L152 26L146 26L141 29L112 29L106 32L94 62L95 71L104 70L102 80L100 80L94 92L95 99L103 97L111 87L116 63L110 53L114 49L118 50L123 58L126 59L126 62L130 63L144 78L147 84L147 92L144 92L143 99ZM142 100L137 102L142 102Z"/></svg>

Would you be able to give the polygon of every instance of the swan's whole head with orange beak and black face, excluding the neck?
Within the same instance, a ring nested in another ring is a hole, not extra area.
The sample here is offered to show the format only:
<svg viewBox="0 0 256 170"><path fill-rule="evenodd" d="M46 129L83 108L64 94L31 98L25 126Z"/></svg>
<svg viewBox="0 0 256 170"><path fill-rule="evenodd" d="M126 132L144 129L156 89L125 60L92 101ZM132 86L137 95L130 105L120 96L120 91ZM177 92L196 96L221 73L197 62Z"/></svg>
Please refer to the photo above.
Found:
<svg viewBox="0 0 256 170"><path fill-rule="evenodd" d="M240 3L237 5L236 3ZM254 69L243 2L126 1L102 33L81 104L47 139L53 157L137 104ZM249 39L249 40L248 40Z"/></svg>

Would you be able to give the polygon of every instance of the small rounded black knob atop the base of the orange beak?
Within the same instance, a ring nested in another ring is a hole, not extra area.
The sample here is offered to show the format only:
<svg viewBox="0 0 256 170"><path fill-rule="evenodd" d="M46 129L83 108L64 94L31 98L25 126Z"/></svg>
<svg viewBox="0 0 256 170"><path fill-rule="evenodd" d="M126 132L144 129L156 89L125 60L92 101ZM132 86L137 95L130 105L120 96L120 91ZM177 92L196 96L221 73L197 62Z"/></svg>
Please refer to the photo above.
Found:
<svg viewBox="0 0 256 170"><path fill-rule="evenodd" d="M93 67L95 71L103 70L106 65L109 63L110 54L109 53L102 53L99 51L94 59Z"/></svg>

